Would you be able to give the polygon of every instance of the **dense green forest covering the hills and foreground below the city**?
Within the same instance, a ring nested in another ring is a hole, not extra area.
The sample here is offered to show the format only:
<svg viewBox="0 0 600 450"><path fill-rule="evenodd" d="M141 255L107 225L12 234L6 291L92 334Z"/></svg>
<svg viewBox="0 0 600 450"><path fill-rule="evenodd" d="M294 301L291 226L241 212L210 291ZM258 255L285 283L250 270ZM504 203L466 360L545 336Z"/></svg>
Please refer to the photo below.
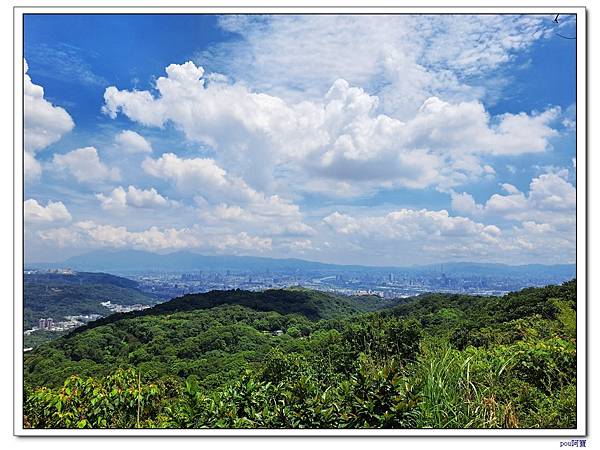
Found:
<svg viewBox="0 0 600 450"><path fill-rule="evenodd" d="M24 364L32 428L574 428L576 281L396 301L213 291Z"/></svg>

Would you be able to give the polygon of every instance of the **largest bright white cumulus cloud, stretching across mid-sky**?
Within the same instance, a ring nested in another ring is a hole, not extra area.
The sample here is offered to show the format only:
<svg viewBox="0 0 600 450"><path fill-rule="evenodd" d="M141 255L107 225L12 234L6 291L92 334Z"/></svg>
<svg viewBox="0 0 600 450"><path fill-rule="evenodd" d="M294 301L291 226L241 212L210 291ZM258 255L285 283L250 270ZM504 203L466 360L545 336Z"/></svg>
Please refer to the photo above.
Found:
<svg viewBox="0 0 600 450"><path fill-rule="evenodd" d="M479 101L431 97L402 121L378 114L379 98L345 80L335 81L321 101L290 104L242 84L206 83L204 70L192 62L171 64L166 72L156 81L156 97L109 87L103 111L148 126L171 122L258 186L271 185L265 178L281 166L296 182L313 187L318 184L309 183L306 174L366 188L456 186L494 173L482 155L547 150L556 134L550 124L560 112L490 117ZM165 157L162 164L174 166L171 160ZM198 159L193 168L178 169L179 183L193 182L185 175L192 171L220 177L211 161ZM158 170L156 164L146 163L146 170Z"/></svg>

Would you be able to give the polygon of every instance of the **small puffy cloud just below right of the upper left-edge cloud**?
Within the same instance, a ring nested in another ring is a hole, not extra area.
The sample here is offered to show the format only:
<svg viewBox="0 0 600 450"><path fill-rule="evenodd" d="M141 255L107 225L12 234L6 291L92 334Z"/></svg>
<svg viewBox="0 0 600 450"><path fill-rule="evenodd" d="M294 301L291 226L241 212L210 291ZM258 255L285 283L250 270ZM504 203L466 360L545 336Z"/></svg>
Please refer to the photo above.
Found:
<svg viewBox="0 0 600 450"><path fill-rule="evenodd" d="M94 147L78 148L64 155L55 154L52 164L57 170L73 175L80 183L117 180L120 177L117 168L109 168L100 161Z"/></svg>

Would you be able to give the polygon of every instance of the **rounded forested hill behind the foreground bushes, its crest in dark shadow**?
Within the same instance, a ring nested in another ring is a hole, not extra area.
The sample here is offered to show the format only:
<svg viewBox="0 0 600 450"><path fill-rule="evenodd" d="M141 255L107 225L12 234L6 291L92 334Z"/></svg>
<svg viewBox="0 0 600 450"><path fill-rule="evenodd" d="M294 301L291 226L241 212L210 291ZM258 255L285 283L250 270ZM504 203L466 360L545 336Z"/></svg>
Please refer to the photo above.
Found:
<svg viewBox="0 0 600 450"><path fill-rule="evenodd" d="M26 377L35 385L56 386L71 374L107 374L139 365L150 378L193 374L206 377L207 385L220 385L282 342L297 344L293 338L309 335L319 319L356 316L395 303L307 289L186 295L73 330L66 339L28 354ZM277 336L278 331L285 335Z"/></svg>

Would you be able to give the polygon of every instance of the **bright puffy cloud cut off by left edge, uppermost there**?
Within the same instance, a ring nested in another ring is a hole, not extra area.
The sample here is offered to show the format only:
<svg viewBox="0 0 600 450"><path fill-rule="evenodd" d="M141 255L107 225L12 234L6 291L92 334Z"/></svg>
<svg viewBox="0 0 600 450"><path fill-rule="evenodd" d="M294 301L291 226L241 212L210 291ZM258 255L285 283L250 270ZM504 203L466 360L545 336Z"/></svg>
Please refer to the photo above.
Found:
<svg viewBox="0 0 600 450"><path fill-rule="evenodd" d="M42 172L35 153L58 141L75 126L73 119L63 108L54 106L44 98L44 88L33 84L23 61L23 118L24 118L24 165L25 176L32 180Z"/></svg>

